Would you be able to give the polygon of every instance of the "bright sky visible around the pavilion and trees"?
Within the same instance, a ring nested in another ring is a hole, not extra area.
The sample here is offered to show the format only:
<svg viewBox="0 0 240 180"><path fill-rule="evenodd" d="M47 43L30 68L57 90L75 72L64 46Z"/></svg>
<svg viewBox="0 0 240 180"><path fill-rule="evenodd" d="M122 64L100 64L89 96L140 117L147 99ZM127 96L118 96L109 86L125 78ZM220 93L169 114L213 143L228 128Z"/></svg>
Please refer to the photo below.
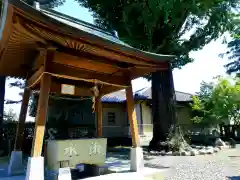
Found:
<svg viewBox="0 0 240 180"><path fill-rule="evenodd" d="M63 5L55 9L59 12L65 13L69 16L81 19L83 21L93 23L92 14L85 8L80 7L75 1L67 0ZM226 45L223 45L221 39L213 41L206 45L202 50L191 52L190 56L194 58L194 62L187 64L182 69L175 69L173 71L175 89L177 91L195 93L199 91L200 83L202 81L211 81L214 76L225 75L224 64L227 59L221 59L218 55L226 50ZM143 78L134 80L133 89L150 86L150 82ZM18 95L19 89L9 88L6 84L6 99L20 99ZM6 110L12 108L16 114L19 114L20 104L6 106ZM32 120L27 117L28 120Z"/></svg>

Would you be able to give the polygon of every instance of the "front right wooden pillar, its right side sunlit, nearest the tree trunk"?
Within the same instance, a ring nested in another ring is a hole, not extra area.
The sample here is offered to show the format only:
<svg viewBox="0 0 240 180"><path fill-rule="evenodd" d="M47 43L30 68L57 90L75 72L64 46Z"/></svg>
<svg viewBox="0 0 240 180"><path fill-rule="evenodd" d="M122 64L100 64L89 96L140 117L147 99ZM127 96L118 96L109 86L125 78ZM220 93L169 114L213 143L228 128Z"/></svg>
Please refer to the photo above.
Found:
<svg viewBox="0 0 240 180"><path fill-rule="evenodd" d="M132 86L126 88L126 97L127 97L127 113L128 113L128 120L130 123L131 128L131 135L132 135L132 145L133 147L139 147L139 134L138 134L138 124L137 124L137 116L134 109L134 97L133 97L133 90Z"/></svg>

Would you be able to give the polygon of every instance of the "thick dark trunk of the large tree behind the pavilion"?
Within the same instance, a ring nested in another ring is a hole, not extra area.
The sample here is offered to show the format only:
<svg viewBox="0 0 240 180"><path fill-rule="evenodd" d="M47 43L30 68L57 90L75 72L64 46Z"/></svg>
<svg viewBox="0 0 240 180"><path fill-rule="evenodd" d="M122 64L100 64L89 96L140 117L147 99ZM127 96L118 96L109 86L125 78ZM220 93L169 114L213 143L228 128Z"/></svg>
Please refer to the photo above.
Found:
<svg viewBox="0 0 240 180"><path fill-rule="evenodd" d="M152 73L153 138L149 149L157 150L166 142L172 125L176 125L175 90L172 69Z"/></svg>

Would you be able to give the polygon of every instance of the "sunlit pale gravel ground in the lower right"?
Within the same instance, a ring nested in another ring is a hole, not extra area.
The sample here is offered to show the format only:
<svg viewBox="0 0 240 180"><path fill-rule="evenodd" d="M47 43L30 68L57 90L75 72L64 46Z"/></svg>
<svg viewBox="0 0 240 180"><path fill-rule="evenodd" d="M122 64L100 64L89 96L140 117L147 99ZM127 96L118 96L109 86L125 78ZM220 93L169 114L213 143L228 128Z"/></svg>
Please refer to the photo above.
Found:
<svg viewBox="0 0 240 180"><path fill-rule="evenodd" d="M166 180L240 180L240 145L215 155L148 156L146 163L164 166Z"/></svg>

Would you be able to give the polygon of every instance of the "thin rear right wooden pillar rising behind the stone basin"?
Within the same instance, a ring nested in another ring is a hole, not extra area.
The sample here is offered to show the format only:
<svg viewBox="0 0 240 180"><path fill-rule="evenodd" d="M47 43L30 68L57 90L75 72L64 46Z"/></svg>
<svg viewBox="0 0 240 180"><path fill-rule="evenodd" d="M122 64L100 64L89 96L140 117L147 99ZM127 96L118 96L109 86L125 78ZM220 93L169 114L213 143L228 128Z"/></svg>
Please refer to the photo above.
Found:
<svg viewBox="0 0 240 180"><path fill-rule="evenodd" d="M96 98L96 111L97 111L97 136L102 137L103 126L103 109L102 109L102 96Z"/></svg>

